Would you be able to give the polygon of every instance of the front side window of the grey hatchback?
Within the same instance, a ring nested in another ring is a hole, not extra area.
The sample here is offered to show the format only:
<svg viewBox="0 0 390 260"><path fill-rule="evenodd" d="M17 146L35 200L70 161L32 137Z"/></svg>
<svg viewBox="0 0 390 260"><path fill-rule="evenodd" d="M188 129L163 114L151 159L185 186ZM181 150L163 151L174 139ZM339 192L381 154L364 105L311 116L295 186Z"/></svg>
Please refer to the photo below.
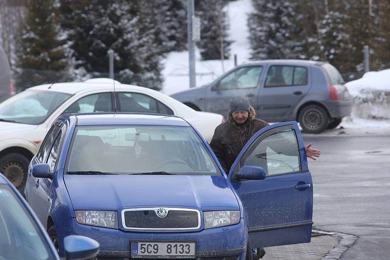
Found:
<svg viewBox="0 0 390 260"><path fill-rule="evenodd" d="M257 88L262 71L262 66L239 68L222 78L216 90Z"/></svg>

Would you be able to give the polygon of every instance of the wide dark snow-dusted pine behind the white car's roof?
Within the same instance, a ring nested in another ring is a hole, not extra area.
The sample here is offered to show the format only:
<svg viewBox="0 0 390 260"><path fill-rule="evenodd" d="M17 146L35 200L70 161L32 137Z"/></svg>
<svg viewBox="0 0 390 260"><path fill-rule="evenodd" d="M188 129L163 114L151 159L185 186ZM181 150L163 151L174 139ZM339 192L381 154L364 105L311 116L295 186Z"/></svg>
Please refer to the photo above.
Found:
<svg viewBox="0 0 390 260"><path fill-rule="evenodd" d="M154 11L146 6L149 2L132 0L61 1L62 25L76 67L107 72L107 51L112 49L119 81L161 88L162 48L156 43Z"/></svg>

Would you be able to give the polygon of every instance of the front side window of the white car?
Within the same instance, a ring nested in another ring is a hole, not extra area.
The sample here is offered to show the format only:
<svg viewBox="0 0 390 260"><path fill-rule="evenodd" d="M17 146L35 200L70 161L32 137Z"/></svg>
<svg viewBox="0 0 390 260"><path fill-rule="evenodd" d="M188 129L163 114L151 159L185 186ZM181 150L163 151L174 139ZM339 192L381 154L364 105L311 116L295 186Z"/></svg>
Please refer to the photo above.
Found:
<svg viewBox="0 0 390 260"><path fill-rule="evenodd" d="M95 93L84 96L70 105L65 111L68 113L111 112L111 93Z"/></svg>

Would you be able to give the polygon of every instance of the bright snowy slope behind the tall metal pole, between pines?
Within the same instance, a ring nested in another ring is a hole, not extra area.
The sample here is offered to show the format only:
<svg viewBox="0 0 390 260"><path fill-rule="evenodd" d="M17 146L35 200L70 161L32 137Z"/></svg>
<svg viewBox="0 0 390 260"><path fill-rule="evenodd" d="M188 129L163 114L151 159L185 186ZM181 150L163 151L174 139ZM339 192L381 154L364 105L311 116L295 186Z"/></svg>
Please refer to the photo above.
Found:
<svg viewBox="0 0 390 260"><path fill-rule="evenodd" d="M234 68L234 54L237 63L249 60L249 31L247 14L251 11L251 0L237 0L230 2L226 7L227 22L229 24L229 40L232 40L230 59L202 61L199 50L195 48L196 86L211 83L218 76ZM173 94L190 88L188 51L171 52L162 62L164 70L164 85L161 90L165 94Z"/></svg>

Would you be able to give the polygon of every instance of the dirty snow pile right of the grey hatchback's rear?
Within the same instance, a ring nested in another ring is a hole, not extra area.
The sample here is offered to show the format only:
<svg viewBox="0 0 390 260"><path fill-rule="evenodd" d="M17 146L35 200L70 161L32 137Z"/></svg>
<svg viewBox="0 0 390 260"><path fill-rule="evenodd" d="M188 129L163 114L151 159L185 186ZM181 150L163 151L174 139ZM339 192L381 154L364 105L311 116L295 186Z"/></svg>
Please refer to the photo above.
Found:
<svg viewBox="0 0 390 260"><path fill-rule="evenodd" d="M363 119L390 119L390 69L368 72L346 84L354 97L352 116Z"/></svg>

